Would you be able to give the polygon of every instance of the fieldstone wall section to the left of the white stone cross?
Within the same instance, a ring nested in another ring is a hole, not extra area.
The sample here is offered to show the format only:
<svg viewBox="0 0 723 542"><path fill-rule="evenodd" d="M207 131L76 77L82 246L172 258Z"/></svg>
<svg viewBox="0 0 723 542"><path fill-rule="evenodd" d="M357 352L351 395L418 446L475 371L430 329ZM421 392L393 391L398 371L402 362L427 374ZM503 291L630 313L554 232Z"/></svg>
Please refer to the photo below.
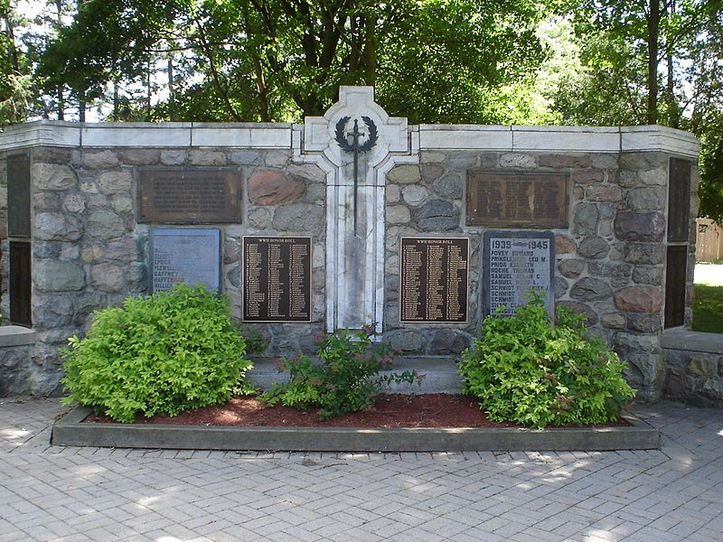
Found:
<svg viewBox="0 0 723 542"><path fill-rule="evenodd" d="M33 350L33 372L37 373L30 389L33 394L60 393L58 349L67 344L68 337L88 328L93 311L148 291L148 235L156 225L136 224L136 202L139 168L149 165L239 168L242 223L219 226L222 288L239 319L242 237L312 236L313 322L248 326L266 339L269 354L312 348L310 332L324 322L325 185L324 175L315 165L292 164L290 149L38 147L30 153L33 328L38 333ZM7 249L4 240L4 254ZM5 262L4 267L7 277ZM7 280L3 294L7 313Z"/></svg>

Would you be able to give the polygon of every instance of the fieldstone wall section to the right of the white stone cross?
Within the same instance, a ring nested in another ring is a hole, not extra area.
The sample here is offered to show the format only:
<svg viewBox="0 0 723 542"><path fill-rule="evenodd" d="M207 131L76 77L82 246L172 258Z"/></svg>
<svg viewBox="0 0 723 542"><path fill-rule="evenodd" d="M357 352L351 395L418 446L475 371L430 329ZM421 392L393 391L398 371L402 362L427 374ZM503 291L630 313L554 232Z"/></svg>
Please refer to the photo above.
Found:
<svg viewBox="0 0 723 542"><path fill-rule="evenodd" d="M568 173L569 227L552 230L558 258L556 303L586 314L591 332L603 336L628 361L627 378L638 397L659 398L669 161L670 154L660 152L422 151L420 164L392 169L386 194L385 337L401 351L427 355L458 354L470 344L482 320L484 228L465 226L468 172ZM430 332L418 324L399 323L399 238L438 233L470 238L470 322L430 326ZM687 317L690 322L690 310Z"/></svg>

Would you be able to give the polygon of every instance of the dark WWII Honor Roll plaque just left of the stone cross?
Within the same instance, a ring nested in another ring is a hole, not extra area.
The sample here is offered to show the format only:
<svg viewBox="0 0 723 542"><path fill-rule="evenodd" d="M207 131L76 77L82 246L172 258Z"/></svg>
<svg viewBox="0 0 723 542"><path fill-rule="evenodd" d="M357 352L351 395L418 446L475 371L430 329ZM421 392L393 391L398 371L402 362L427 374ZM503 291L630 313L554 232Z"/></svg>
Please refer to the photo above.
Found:
<svg viewBox="0 0 723 542"><path fill-rule="evenodd" d="M311 322L309 237L243 238L243 319Z"/></svg>

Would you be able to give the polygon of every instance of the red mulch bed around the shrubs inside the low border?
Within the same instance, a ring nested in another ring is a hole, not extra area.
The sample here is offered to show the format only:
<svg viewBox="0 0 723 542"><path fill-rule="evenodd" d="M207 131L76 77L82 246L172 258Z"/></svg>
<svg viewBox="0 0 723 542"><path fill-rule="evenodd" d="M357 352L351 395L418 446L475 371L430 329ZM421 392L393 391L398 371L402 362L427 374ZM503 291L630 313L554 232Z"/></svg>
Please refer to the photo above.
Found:
<svg viewBox="0 0 723 542"><path fill-rule="evenodd" d="M91 414L85 422L113 422ZM264 406L255 397L236 397L221 406L187 410L178 416L139 416L136 424L305 426L305 427L514 427L487 419L473 397L432 393L418 396L382 395L374 406L320 422L316 409L306 412L288 406ZM628 425L618 420L606 425Z"/></svg>

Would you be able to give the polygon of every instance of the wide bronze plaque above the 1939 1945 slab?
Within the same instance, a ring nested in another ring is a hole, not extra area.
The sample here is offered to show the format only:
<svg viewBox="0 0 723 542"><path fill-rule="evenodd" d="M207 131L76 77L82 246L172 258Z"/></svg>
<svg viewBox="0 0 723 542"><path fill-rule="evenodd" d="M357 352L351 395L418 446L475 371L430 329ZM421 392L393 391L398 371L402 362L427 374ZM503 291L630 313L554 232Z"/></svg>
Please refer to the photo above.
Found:
<svg viewBox="0 0 723 542"><path fill-rule="evenodd" d="M565 173L480 173L467 177L467 225L566 228Z"/></svg>

